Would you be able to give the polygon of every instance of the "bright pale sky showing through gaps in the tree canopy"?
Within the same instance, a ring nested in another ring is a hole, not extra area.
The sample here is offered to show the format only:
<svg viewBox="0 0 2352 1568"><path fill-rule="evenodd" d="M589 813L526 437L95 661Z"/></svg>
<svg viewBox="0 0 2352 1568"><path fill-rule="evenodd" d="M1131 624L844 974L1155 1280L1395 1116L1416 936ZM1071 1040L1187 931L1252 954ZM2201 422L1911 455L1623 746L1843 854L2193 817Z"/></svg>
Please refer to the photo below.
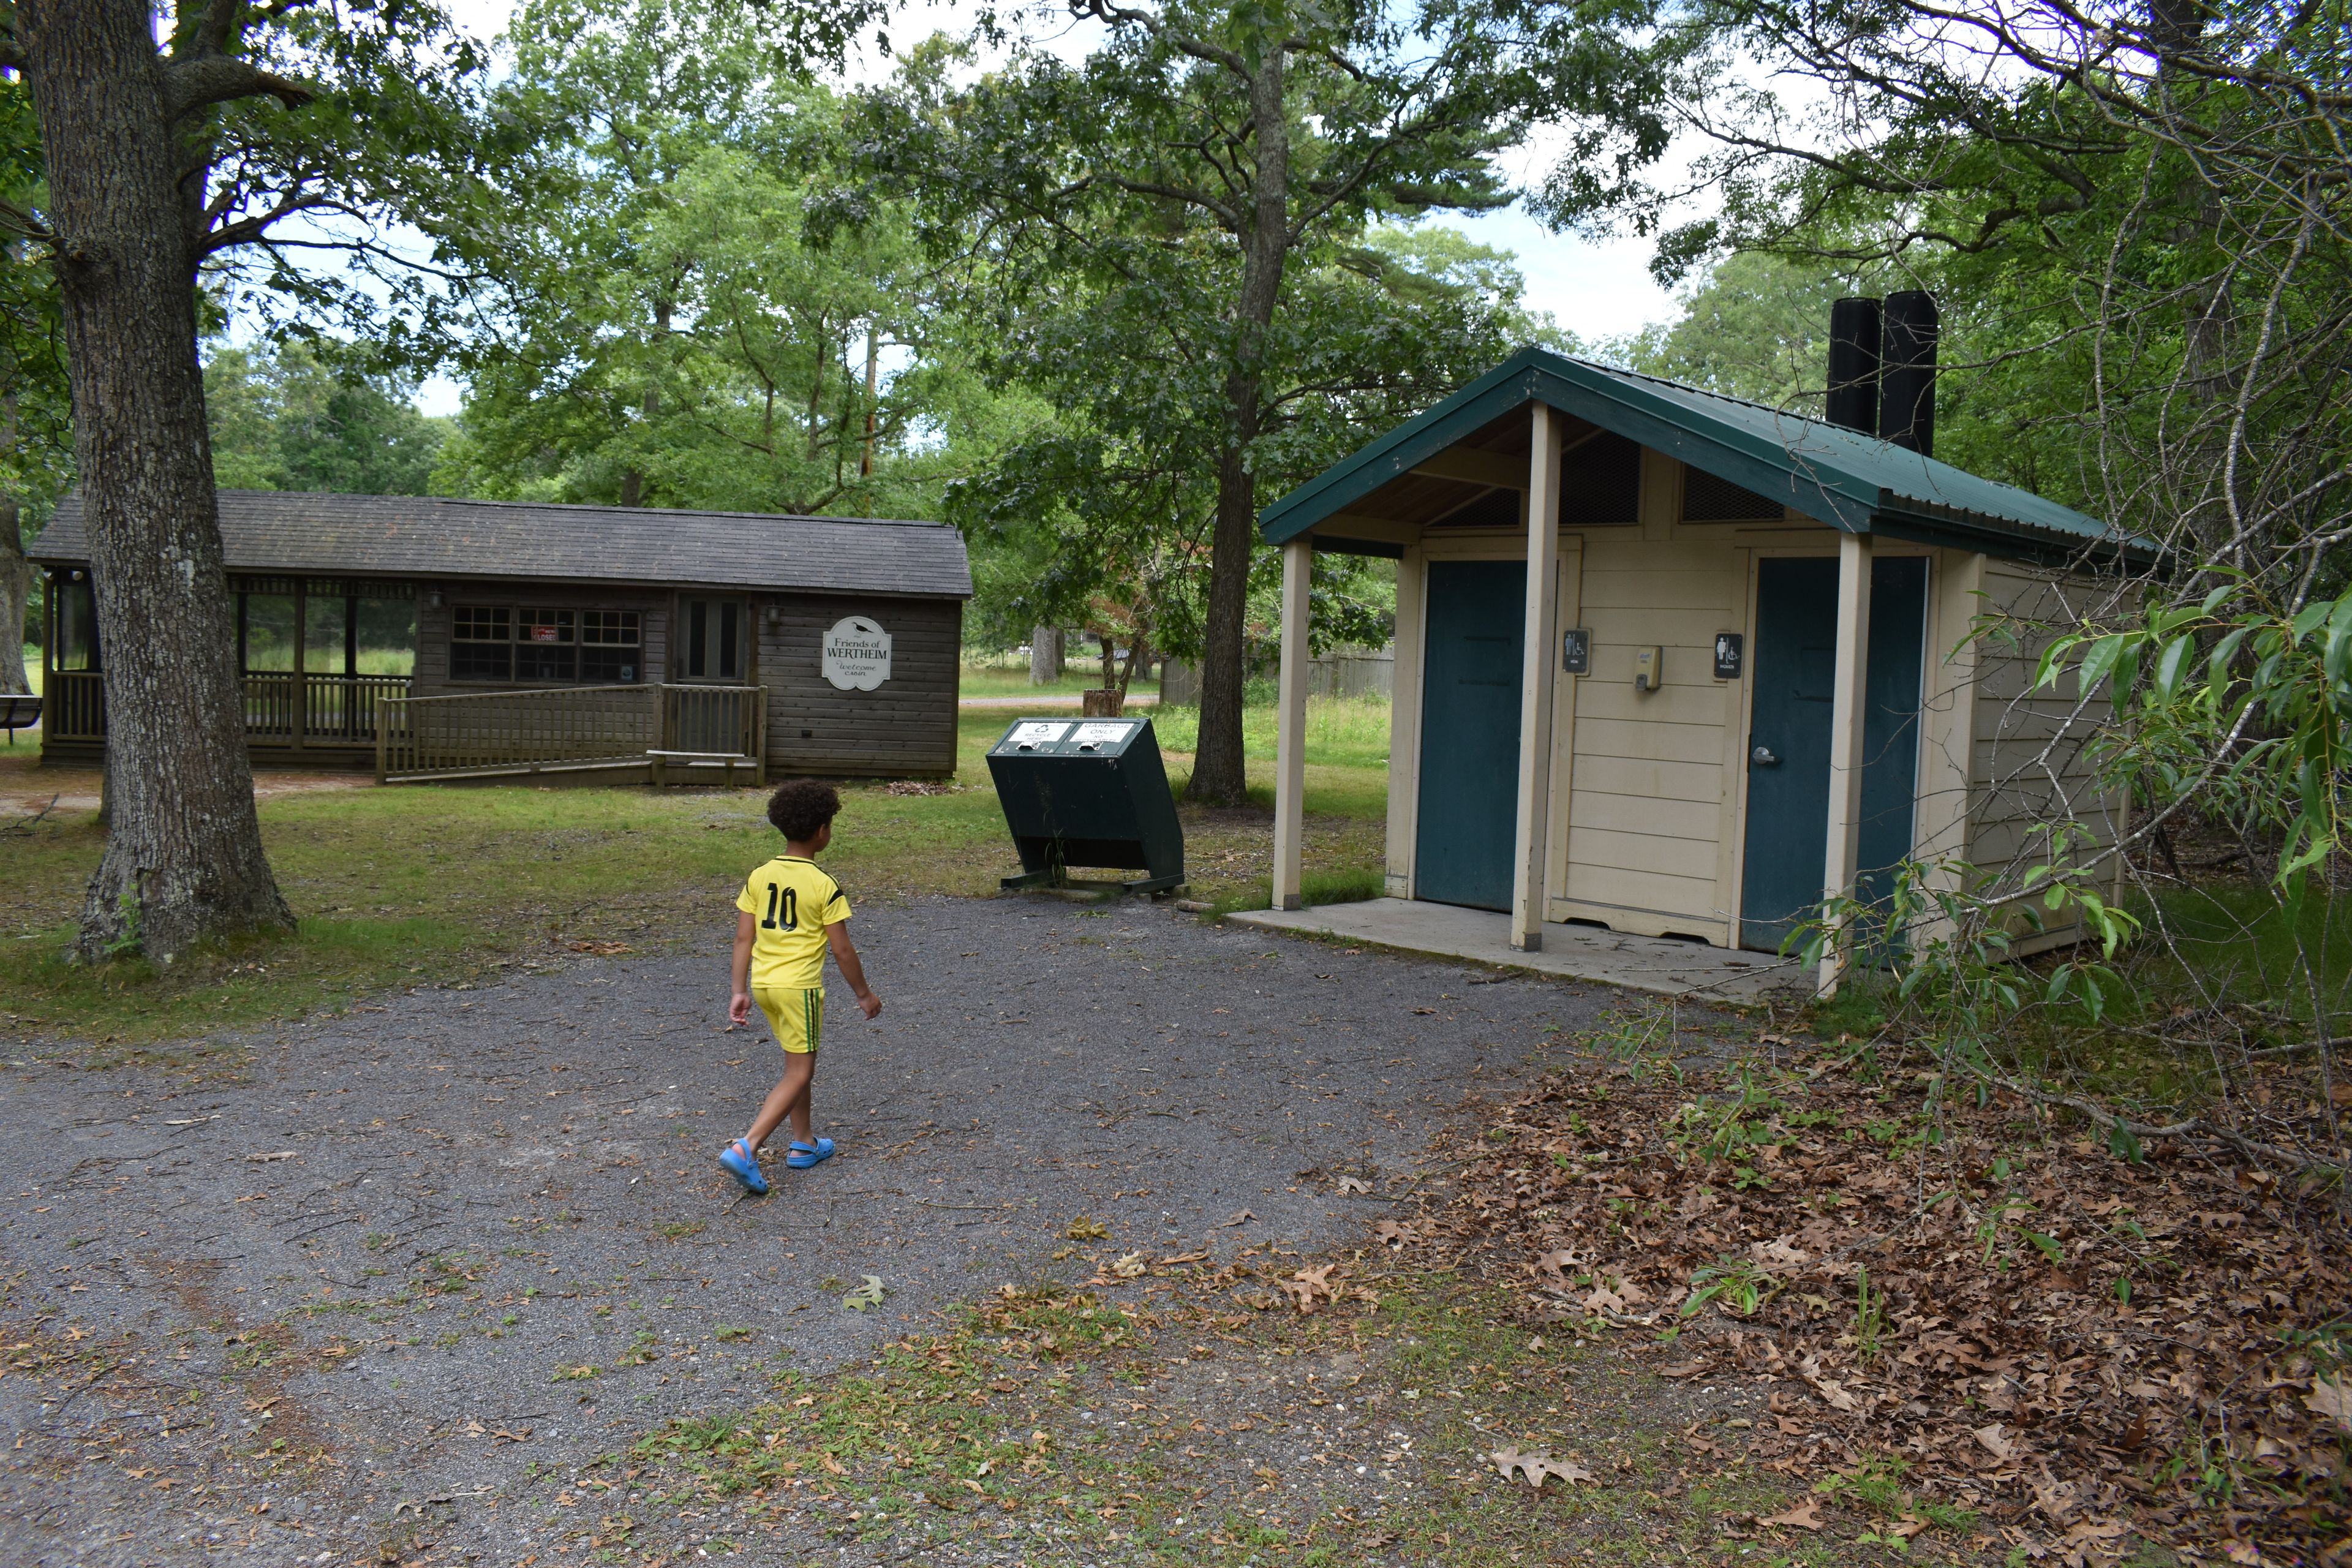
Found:
<svg viewBox="0 0 2352 1568"><path fill-rule="evenodd" d="M513 0L449 0L456 24L482 38L496 38L513 12ZM941 28L960 28L969 19L969 7L941 5L938 0L915 0L891 19L894 38L924 38ZM1082 49L1094 24L1073 24L1068 33L1073 52ZM866 49L849 63L849 80L875 80L889 71L889 59ZM1555 143L1557 146L1557 143ZM1519 160L1508 169L1515 183L1536 183L1548 167L1545 141L1531 141ZM1581 240L1555 235L1531 219L1524 207L1512 205L1489 214L1446 214L1437 219L1446 228L1458 228L1479 244L1512 252L1519 273L1526 277L1522 303L1529 310L1552 315L1562 327L1583 341L1616 339L1639 331L1649 322L1679 315L1675 296L1651 282L1649 240L1609 237ZM419 388L416 404L426 414L456 414L463 388L449 378L433 378Z"/></svg>

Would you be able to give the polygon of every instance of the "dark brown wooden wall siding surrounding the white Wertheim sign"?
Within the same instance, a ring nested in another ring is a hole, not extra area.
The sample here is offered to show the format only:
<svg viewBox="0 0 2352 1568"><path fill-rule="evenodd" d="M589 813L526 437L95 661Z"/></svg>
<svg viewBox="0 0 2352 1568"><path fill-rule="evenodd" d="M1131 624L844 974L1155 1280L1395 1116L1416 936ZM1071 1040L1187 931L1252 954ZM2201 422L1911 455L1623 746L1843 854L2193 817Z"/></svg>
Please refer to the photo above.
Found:
<svg viewBox="0 0 2352 1568"><path fill-rule="evenodd" d="M962 602L769 595L753 616L771 776L955 773ZM840 691L818 668L823 635L842 616L866 616L891 637L891 675L875 691Z"/></svg>

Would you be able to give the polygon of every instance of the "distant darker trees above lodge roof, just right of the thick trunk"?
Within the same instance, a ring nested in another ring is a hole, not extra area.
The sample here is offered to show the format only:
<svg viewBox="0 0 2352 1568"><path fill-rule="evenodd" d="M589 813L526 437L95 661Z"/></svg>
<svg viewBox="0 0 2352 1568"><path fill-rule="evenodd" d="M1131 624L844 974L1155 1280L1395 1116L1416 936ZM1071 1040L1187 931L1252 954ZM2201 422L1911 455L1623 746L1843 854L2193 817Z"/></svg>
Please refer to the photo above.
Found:
<svg viewBox="0 0 2352 1568"><path fill-rule="evenodd" d="M212 473L228 489L430 494L449 421L412 397L412 383L369 374L350 346L216 348L205 364Z"/></svg>

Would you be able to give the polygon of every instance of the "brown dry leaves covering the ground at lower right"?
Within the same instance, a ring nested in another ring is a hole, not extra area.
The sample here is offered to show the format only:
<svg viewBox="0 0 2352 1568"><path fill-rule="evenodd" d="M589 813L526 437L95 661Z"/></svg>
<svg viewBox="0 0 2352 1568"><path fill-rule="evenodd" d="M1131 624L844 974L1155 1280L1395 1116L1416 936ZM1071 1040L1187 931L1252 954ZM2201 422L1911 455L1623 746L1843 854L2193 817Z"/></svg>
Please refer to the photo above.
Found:
<svg viewBox="0 0 2352 1568"><path fill-rule="evenodd" d="M1411 1234L1531 1319L1642 1326L1668 1378L1769 1382L1748 1455L1792 1479L1893 1458L2053 1554L2131 1519L2352 1561L2340 1199L1926 1086L1595 1063L1491 1107Z"/></svg>

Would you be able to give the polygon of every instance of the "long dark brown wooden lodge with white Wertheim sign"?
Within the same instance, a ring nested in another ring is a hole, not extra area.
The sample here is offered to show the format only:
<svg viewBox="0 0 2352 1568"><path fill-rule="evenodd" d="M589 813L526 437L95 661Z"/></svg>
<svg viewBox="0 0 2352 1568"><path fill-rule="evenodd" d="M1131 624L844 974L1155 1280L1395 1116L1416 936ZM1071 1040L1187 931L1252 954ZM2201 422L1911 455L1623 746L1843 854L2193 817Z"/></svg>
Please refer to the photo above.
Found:
<svg viewBox="0 0 2352 1568"><path fill-rule="evenodd" d="M221 491L256 766L381 778L955 771L955 529ZM47 571L42 762L106 745L82 503Z"/></svg>

